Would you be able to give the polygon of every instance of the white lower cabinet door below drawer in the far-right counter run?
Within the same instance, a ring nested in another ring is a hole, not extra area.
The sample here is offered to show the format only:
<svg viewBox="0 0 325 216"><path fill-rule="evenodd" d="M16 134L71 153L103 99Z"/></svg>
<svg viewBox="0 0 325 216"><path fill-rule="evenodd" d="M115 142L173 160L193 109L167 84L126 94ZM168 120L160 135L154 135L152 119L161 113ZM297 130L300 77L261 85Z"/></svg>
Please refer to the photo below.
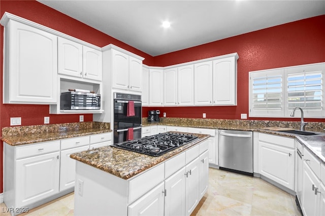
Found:
<svg viewBox="0 0 325 216"><path fill-rule="evenodd" d="M303 195L302 195L302 211L304 215L316 215L318 207L317 196L314 187L319 185L317 176L310 169L306 161L303 162ZM321 214L320 214L321 215ZM322 213L323 215L323 213Z"/></svg>

